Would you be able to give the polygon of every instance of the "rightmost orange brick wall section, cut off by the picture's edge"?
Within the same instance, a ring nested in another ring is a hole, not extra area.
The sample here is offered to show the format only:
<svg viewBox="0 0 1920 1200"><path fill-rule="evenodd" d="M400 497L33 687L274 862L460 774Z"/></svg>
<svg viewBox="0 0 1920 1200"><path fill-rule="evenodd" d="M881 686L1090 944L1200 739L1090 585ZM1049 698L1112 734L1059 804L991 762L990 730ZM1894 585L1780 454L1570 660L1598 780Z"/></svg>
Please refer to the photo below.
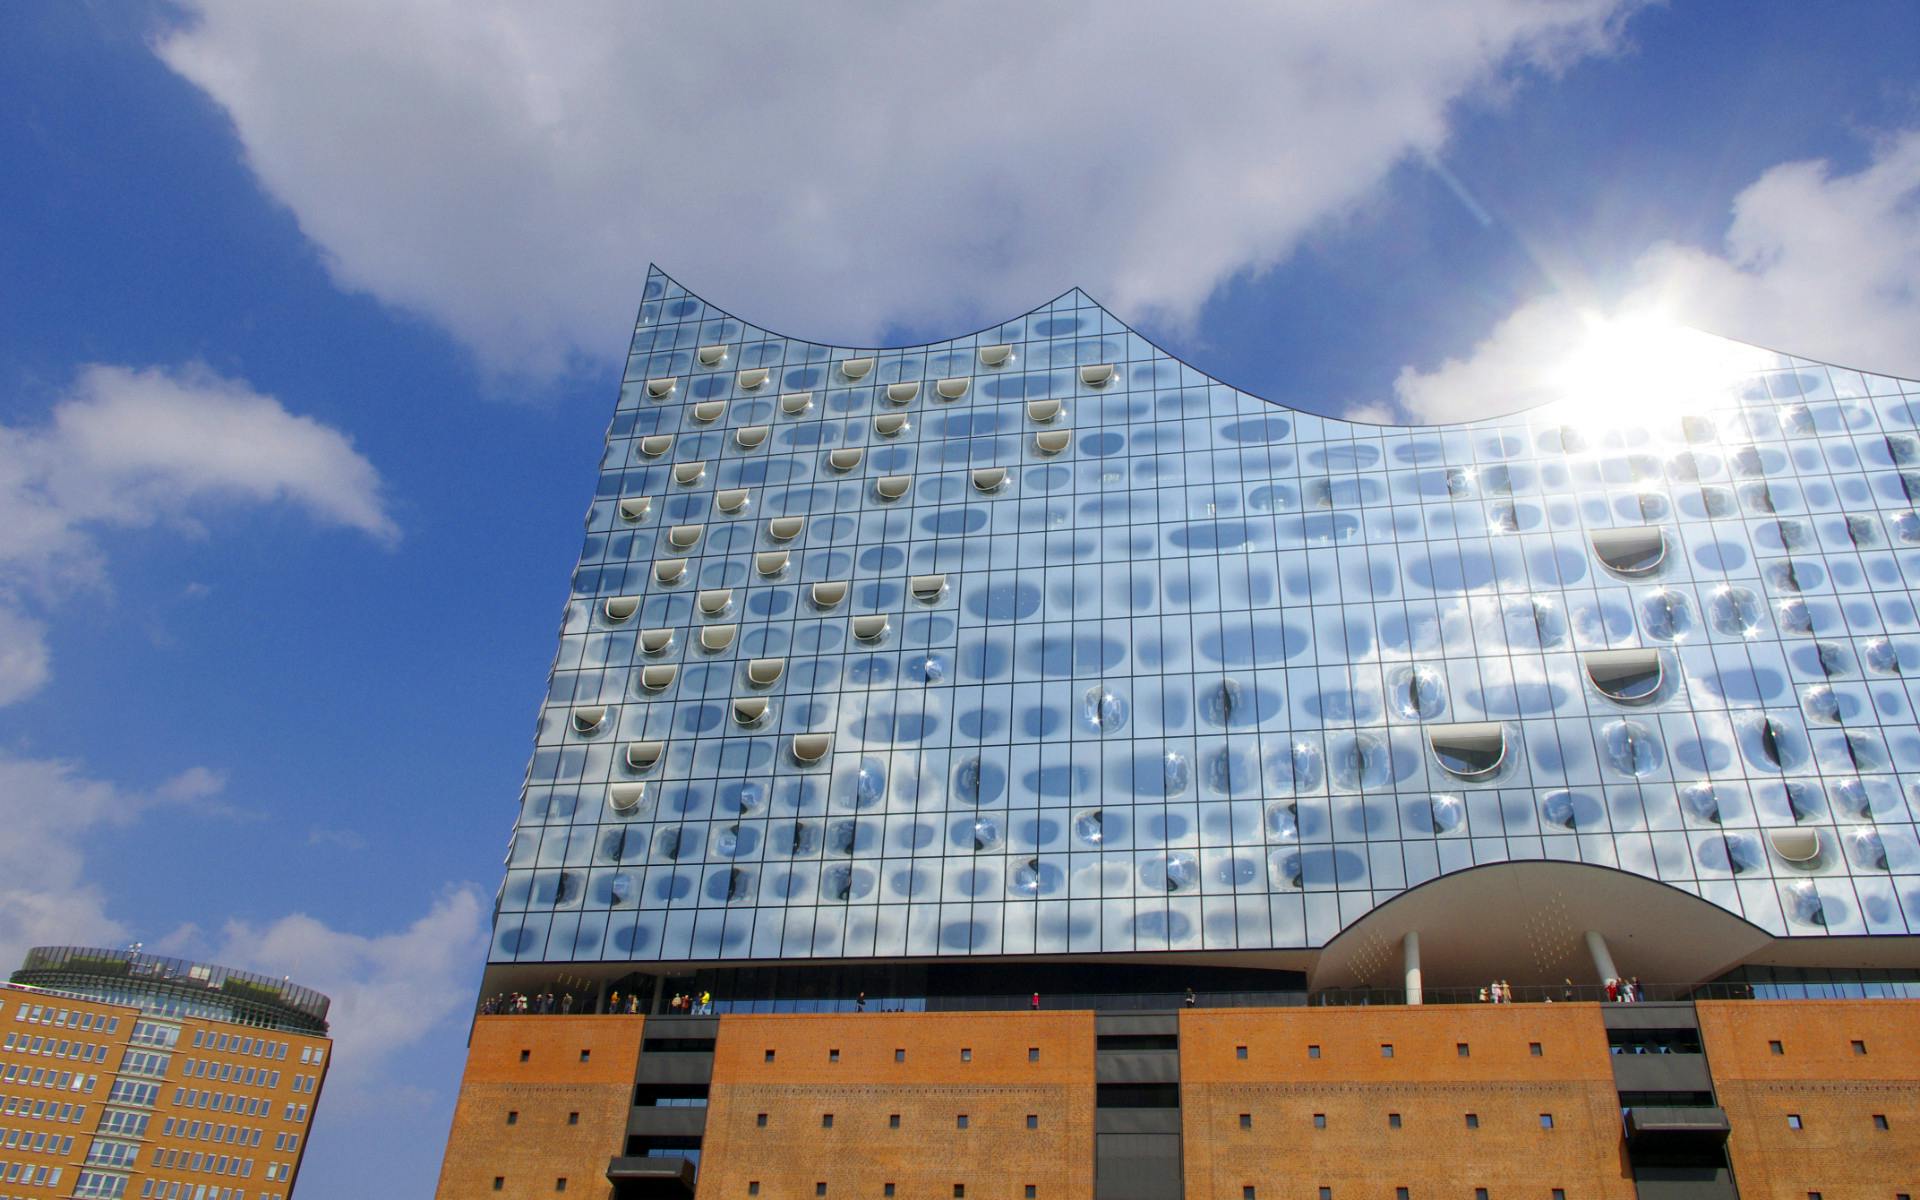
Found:
<svg viewBox="0 0 1920 1200"><path fill-rule="evenodd" d="M1920 1000L1701 1002L1699 1031L1743 1200L1920 1194Z"/></svg>

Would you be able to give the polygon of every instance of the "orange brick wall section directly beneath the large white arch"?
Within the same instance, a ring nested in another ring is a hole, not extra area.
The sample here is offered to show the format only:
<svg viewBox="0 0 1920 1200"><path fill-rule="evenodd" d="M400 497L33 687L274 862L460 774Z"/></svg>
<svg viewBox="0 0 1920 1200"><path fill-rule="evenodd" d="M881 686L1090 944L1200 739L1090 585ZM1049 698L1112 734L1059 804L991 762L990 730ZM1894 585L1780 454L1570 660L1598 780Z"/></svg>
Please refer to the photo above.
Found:
<svg viewBox="0 0 1920 1200"><path fill-rule="evenodd" d="M1187 1010L1181 1106L1188 1200L1634 1198L1597 1004Z"/></svg>

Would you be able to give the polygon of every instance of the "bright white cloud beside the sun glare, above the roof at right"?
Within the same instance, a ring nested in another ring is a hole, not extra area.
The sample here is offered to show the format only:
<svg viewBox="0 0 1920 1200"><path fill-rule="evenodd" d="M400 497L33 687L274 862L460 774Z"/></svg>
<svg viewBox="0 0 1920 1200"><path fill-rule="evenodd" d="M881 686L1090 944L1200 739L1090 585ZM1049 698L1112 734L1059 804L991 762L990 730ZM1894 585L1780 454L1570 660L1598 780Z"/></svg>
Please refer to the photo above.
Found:
<svg viewBox="0 0 1920 1200"><path fill-rule="evenodd" d="M1645 250L1611 301L1532 300L1432 371L1405 367L1417 420L1467 420L1555 399L1567 365L1649 317L1862 371L1920 378L1920 131L1843 175L1782 163L1734 198L1718 250Z"/></svg>

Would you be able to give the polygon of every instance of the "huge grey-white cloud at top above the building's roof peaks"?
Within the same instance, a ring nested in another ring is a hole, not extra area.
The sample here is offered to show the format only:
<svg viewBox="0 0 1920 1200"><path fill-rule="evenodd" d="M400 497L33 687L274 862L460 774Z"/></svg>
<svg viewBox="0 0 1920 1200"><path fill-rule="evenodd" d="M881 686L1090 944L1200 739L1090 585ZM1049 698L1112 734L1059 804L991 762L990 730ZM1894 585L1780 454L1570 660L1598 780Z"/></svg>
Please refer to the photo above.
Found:
<svg viewBox="0 0 1920 1200"><path fill-rule="evenodd" d="M538 372L649 257L812 336L1075 282L1179 319L1638 4L190 0L156 50L342 286Z"/></svg>

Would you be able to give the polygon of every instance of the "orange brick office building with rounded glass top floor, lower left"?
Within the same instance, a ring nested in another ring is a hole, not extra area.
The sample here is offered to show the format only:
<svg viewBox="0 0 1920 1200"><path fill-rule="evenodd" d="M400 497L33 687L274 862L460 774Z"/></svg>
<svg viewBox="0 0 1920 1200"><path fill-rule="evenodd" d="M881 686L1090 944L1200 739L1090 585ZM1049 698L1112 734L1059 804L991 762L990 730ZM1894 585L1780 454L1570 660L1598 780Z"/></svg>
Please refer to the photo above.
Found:
<svg viewBox="0 0 1920 1200"><path fill-rule="evenodd" d="M286 1200L326 1008L207 962L31 950L0 985L0 1198Z"/></svg>

